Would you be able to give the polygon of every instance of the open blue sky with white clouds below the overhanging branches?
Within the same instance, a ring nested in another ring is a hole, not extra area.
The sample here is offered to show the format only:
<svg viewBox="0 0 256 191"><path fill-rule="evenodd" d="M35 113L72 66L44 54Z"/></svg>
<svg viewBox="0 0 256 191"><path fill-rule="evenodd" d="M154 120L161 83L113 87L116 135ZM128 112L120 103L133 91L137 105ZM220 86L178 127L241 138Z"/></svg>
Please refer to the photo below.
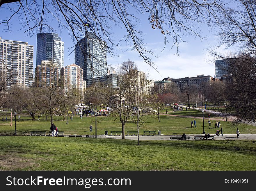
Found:
<svg viewBox="0 0 256 191"><path fill-rule="evenodd" d="M7 14L5 10L0 11L0 15ZM19 21L17 17L13 18L11 21L11 33L6 32L6 26L0 25L0 37L7 40L18 40L28 42L34 45L34 67L36 63L36 35L27 36L24 29L19 26ZM209 62L211 58L207 56L207 51L205 49L209 44L216 45L216 36L208 31L208 28L202 24L201 35L207 36L205 40L200 41L199 38L193 36L185 36L184 40L188 42L179 42L179 55L177 55L177 49L169 49L173 42L170 39L170 44L167 44L167 48L163 50L163 35L160 30L154 30L151 28L150 23L147 19L142 18L140 21L140 26L138 26L144 33L145 43L147 49L154 52L154 56L149 55L157 66L156 69L151 68L149 65L145 64L143 60L138 58L138 53L136 51L127 50L126 52L116 51L117 57L108 56L108 64L112 67L120 65L125 60L134 61L138 69L147 72L150 79L155 81L162 80L166 77L171 78L183 78L185 76L194 77L199 74L211 75L214 77L215 69L214 62ZM116 31L117 33L120 31ZM57 33L64 41L65 45L65 57L64 65L69 65L74 63L74 52L71 52L69 48L72 48L76 42L68 35L68 31L63 29L62 31L57 30ZM128 45L129 46L129 45ZM127 49L127 45L121 45L123 49ZM224 50L223 50L224 51Z"/></svg>

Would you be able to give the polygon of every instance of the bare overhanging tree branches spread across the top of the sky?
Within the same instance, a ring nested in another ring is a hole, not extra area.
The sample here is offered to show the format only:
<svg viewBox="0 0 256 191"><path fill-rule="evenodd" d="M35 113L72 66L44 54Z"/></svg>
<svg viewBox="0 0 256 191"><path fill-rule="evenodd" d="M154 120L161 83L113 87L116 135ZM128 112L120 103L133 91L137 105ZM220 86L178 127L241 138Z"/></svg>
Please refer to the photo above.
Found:
<svg viewBox="0 0 256 191"><path fill-rule="evenodd" d="M106 42L107 46L101 48L106 48L111 56L115 56L116 49L121 49L122 43L127 43L129 49L137 51L147 64L154 67L148 56L152 52L147 49L143 39L145 34L140 28L140 22L146 21L141 17L148 18L152 29L159 30L165 46L170 42L168 47L176 47L178 52L179 41L184 41L184 36L204 39L200 25L205 23L210 27L211 21L218 20L217 13L223 4L221 0L1 0L0 10L6 10L8 14L1 17L0 24L5 24L11 31L10 24L17 15L29 35L65 28L75 43L91 32ZM59 26L53 26L55 22ZM123 33L115 35L113 31L117 29Z"/></svg>

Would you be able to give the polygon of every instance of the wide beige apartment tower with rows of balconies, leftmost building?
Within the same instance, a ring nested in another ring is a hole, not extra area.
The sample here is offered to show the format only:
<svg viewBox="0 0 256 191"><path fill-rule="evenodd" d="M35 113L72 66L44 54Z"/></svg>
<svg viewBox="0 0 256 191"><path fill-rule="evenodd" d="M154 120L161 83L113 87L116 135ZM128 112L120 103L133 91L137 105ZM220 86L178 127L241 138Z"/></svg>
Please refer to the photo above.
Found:
<svg viewBox="0 0 256 191"><path fill-rule="evenodd" d="M0 37L0 78L6 81L6 89L14 85L33 87L33 50L28 42Z"/></svg>

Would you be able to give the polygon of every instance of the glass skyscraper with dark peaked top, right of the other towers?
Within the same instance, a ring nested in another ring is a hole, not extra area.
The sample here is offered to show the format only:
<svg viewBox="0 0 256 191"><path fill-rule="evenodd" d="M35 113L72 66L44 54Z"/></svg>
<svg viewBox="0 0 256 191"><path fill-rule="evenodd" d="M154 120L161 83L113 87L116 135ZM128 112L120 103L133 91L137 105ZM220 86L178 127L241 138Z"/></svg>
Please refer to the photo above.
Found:
<svg viewBox="0 0 256 191"><path fill-rule="evenodd" d="M107 75L106 42L97 35L86 32L86 37L75 45L75 64L83 68L83 80Z"/></svg>

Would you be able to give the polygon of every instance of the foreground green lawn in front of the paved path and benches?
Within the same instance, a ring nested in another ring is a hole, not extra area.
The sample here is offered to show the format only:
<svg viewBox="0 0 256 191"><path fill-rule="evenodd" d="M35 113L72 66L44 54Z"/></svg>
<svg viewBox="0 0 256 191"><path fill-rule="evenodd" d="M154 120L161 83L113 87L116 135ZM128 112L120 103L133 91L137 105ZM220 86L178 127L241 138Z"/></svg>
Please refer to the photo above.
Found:
<svg viewBox="0 0 256 191"><path fill-rule="evenodd" d="M0 170L256 170L252 140L0 136ZM54 165L53 165L54 164Z"/></svg>

